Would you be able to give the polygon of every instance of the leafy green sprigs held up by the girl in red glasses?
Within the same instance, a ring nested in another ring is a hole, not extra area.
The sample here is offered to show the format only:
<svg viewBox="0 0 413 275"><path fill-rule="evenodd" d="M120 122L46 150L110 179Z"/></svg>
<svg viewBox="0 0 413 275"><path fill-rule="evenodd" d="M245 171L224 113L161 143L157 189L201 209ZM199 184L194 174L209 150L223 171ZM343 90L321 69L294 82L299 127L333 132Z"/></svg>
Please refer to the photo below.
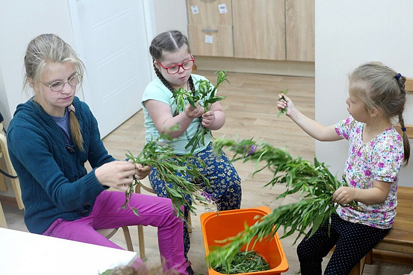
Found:
<svg viewBox="0 0 413 275"><path fill-rule="evenodd" d="M179 88L174 92L174 99L178 111L183 111L185 109L186 103L188 102L193 108L196 108L196 103L199 102L199 105L204 108L205 112L208 112L211 109L211 105L217 101L224 100L225 97L217 96L217 88L224 82L228 82L227 72L217 71L215 75L218 74L217 84L213 86L208 80L198 80L195 83L195 86L198 85L198 89L195 91L186 91L184 88ZM199 123L202 123L202 117L199 118ZM205 145L204 136L206 134L211 135L210 129L207 129L200 125L200 129L195 133L192 139L185 146L185 149L188 149L192 146L191 154L195 150L198 144Z"/></svg>

